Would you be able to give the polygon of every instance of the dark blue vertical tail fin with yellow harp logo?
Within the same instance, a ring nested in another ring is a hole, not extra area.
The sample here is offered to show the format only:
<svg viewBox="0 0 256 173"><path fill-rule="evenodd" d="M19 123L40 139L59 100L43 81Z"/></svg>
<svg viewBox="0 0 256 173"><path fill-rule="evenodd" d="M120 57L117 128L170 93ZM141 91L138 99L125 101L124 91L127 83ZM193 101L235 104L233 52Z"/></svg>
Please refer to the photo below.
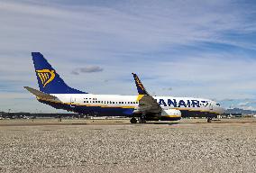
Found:
<svg viewBox="0 0 256 173"><path fill-rule="evenodd" d="M69 87L40 52L32 52L32 60L41 92L48 94L87 94Z"/></svg>

